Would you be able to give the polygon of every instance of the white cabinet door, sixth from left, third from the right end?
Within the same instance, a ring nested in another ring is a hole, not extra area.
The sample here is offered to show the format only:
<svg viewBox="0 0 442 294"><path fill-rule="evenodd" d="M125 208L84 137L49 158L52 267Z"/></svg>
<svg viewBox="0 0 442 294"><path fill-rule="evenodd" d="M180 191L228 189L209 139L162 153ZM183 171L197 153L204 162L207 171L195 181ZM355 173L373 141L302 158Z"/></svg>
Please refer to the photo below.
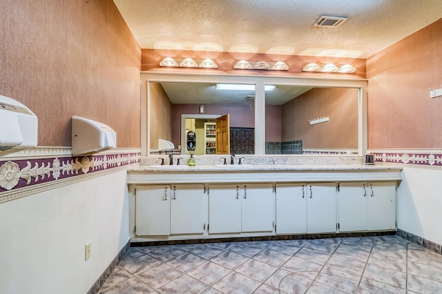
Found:
<svg viewBox="0 0 442 294"><path fill-rule="evenodd" d="M336 184L308 184L307 197L307 233L336 232Z"/></svg>

